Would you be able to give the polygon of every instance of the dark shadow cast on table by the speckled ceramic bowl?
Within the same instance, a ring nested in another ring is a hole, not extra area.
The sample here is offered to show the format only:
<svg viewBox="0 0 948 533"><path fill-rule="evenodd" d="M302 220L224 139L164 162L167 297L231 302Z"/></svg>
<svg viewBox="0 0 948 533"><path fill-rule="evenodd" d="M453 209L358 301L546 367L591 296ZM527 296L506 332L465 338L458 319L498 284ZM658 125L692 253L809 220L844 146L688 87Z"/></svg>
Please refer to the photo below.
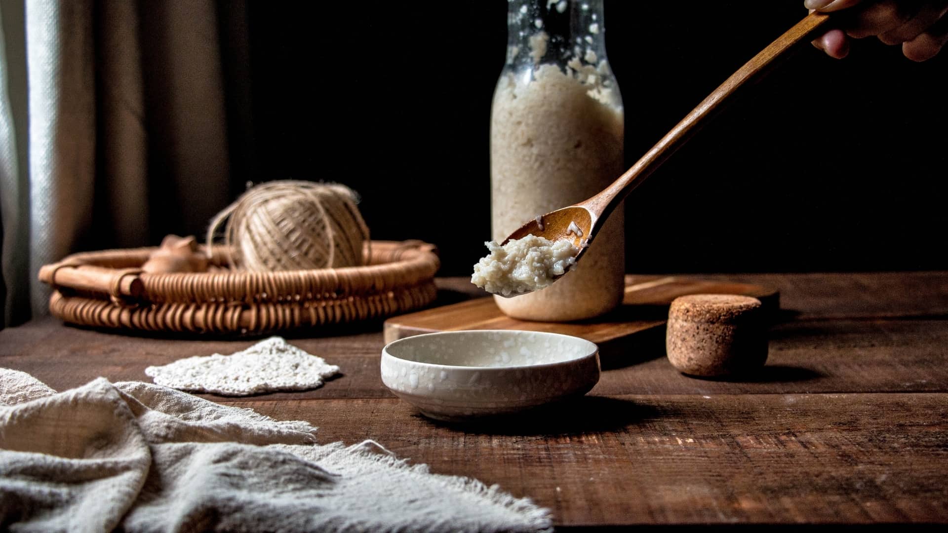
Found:
<svg viewBox="0 0 948 533"><path fill-rule="evenodd" d="M620 430L652 418L652 406L605 396L580 396L522 414L492 416L474 422L449 423L426 418L452 430L492 435L559 435ZM422 416L418 414L418 416Z"/></svg>

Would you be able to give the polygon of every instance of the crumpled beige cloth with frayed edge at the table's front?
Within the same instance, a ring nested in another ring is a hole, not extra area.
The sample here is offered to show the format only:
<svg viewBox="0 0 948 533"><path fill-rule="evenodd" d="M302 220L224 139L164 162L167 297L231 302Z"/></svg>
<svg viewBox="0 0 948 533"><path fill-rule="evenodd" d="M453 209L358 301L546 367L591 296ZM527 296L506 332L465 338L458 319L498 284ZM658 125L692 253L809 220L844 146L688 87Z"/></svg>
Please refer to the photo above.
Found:
<svg viewBox="0 0 948 533"><path fill-rule="evenodd" d="M173 389L0 369L0 529L537 531L549 511Z"/></svg>

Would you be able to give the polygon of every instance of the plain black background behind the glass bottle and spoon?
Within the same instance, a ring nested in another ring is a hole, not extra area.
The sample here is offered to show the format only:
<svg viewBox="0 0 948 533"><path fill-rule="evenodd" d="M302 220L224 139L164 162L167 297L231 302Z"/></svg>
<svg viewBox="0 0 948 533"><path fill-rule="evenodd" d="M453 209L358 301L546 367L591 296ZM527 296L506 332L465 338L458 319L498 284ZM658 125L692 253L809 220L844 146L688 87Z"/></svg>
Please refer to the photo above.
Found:
<svg viewBox="0 0 948 533"><path fill-rule="evenodd" d="M339 4L339 5L337 5ZM344 4L344 5L343 5ZM753 8L753 9L751 9ZM246 180L362 195L375 239L439 246L465 275L490 235L490 101L506 4L250 2ZM608 1L629 164L806 15L802 1ZM806 46L627 201L629 272L948 268L948 52L915 64Z"/></svg>

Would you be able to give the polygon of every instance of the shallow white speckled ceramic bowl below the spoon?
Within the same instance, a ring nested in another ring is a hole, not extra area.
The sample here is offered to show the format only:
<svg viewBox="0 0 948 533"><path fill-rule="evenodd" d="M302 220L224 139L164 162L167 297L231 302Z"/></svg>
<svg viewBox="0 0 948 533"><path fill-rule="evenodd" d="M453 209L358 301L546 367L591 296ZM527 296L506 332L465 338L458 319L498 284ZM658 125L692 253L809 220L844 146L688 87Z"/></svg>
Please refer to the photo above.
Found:
<svg viewBox="0 0 948 533"><path fill-rule="evenodd" d="M599 349L558 333L446 331L395 340L381 367L392 393L456 422L585 395L599 381Z"/></svg>

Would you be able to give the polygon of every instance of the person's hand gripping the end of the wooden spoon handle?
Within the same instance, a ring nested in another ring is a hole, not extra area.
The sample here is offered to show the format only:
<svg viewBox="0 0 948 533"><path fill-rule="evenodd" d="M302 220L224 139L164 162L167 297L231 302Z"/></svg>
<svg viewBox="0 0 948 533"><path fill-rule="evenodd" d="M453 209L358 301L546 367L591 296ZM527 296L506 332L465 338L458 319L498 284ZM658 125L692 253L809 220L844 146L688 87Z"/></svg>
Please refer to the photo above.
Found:
<svg viewBox="0 0 948 533"><path fill-rule="evenodd" d="M876 36L886 45L902 45L912 61L925 61L948 43L948 0L804 0L811 11L843 11L839 29L832 29L813 46L830 57L849 53L849 39Z"/></svg>

